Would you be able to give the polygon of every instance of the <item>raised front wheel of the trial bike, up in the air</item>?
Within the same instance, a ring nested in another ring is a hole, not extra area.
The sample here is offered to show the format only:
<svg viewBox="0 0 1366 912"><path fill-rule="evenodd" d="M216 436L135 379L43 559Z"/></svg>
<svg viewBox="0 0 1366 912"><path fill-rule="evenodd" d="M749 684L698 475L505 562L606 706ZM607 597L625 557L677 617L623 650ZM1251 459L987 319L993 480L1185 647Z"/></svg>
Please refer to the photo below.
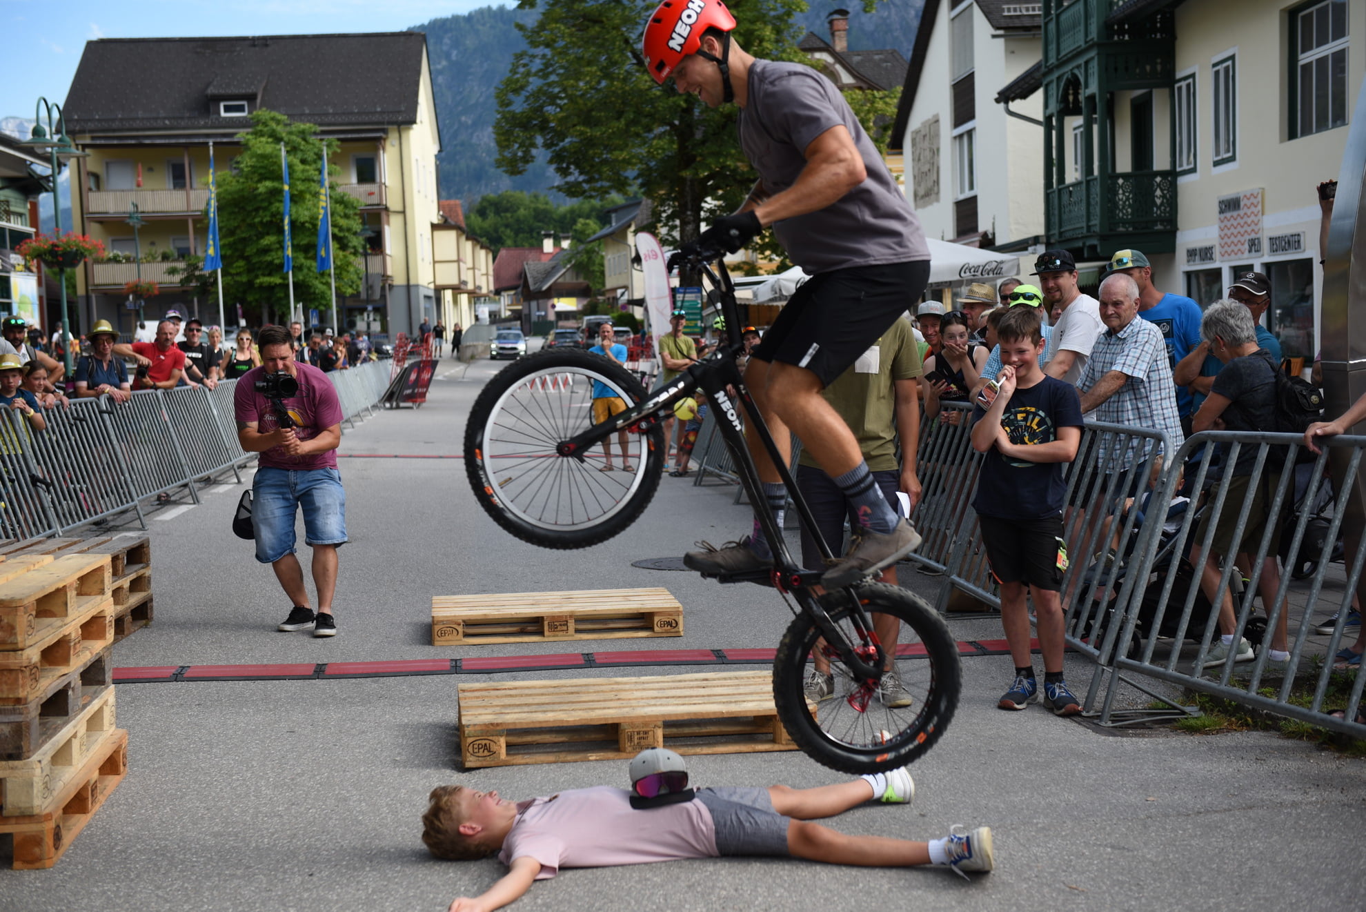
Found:
<svg viewBox="0 0 1366 912"><path fill-rule="evenodd" d="M520 358L488 382L464 429L474 496L499 526L542 547L587 547L645 511L664 468L664 431L627 429L581 456L556 446L593 426L593 393L634 407L645 395L624 367L582 350ZM626 453L623 459L623 438ZM623 466L630 466L626 471Z"/></svg>

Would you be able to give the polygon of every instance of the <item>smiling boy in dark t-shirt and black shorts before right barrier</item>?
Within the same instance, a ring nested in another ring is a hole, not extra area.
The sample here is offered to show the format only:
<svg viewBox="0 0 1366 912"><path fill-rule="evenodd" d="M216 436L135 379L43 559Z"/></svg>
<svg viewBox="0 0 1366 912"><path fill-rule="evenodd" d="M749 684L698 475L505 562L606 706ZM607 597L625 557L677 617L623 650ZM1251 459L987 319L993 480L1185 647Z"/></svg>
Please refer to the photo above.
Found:
<svg viewBox="0 0 1366 912"><path fill-rule="evenodd" d="M1001 584L1001 627L1015 659L1015 683L997 706L1022 710L1040 699L1029 649L1029 586L1044 653L1045 704L1057 715L1075 715L1082 707L1063 679L1059 590L1067 569L1063 463L1076 457L1082 441L1082 403L1075 386L1040 369L1041 325L1037 309L1012 307L996 330L1000 390L989 407L979 399L973 415L973 448L985 455L973 508Z"/></svg>

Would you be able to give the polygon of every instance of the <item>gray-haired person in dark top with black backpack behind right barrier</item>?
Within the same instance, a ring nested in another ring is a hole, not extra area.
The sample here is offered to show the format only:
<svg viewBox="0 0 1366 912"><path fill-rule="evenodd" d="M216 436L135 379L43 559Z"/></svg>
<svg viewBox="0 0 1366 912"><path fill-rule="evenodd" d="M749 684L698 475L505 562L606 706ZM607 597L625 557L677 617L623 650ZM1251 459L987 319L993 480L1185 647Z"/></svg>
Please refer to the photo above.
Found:
<svg viewBox="0 0 1366 912"><path fill-rule="evenodd" d="M1224 367L1214 378L1209 397L1195 412L1195 433L1202 430L1274 430L1276 371L1280 370L1280 365L1276 363L1270 352L1257 344L1253 313L1240 302L1217 300L1205 310L1199 333L1201 339L1209 343L1210 354L1224 362ZM1280 461L1273 453L1268 453L1261 478L1255 485L1251 485L1257 451L1255 445L1244 445L1239 448L1238 459L1229 464L1225 448L1224 471L1229 472L1232 478L1228 482L1223 509L1217 516L1206 512L1201 520L1199 531L1191 539L1194 542L1191 564L1201 573L1201 590L1210 605L1218 605L1221 642L1216 643L1206 655L1206 668L1224 664L1228 651L1233 649L1233 631L1238 625L1233 597L1228 590L1218 591L1220 560L1228 561L1235 554L1244 554L1243 565L1250 565L1246 549L1255 550L1261 545L1268 523L1272 524L1270 542L1266 546L1266 557L1262 560L1262 572L1258 580L1262 605L1268 613L1276 605L1276 593L1280 588L1280 564L1276 558L1276 552L1280 547L1280 522L1279 517L1270 516L1272 496L1280 483ZM1233 541L1243 504L1247 504L1247 524L1242 538ZM1202 554L1201 545L1205 542L1210 523L1214 524L1214 538L1210 542L1209 553ZM1284 676L1290 669L1290 643L1285 635L1287 614L1287 606L1281 606L1276 628L1272 631L1272 651L1264 669L1264 673L1272 677ZM1235 653L1235 662L1247 662L1254 658L1253 647L1246 639L1239 642Z"/></svg>

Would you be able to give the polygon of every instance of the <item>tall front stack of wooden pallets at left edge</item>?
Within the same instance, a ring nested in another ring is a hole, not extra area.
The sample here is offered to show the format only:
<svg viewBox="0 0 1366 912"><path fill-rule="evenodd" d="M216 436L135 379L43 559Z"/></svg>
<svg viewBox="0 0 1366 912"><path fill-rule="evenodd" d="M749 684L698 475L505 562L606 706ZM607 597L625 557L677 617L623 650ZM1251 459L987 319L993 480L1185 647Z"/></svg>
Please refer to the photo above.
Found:
<svg viewBox="0 0 1366 912"><path fill-rule="evenodd" d="M0 834L12 834L16 868L56 864L126 774L109 666L113 565L66 546L0 556Z"/></svg>

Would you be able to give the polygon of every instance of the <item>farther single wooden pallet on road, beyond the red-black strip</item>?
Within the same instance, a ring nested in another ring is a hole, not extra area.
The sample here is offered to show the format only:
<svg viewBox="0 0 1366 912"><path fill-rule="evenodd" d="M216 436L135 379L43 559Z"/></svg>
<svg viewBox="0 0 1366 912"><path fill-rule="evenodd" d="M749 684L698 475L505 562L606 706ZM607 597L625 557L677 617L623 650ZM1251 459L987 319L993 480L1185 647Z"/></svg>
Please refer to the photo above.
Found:
<svg viewBox="0 0 1366 912"><path fill-rule="evenodd" d="M683 636L683 606L667 588L437 595L432 644Z"/></svg>

